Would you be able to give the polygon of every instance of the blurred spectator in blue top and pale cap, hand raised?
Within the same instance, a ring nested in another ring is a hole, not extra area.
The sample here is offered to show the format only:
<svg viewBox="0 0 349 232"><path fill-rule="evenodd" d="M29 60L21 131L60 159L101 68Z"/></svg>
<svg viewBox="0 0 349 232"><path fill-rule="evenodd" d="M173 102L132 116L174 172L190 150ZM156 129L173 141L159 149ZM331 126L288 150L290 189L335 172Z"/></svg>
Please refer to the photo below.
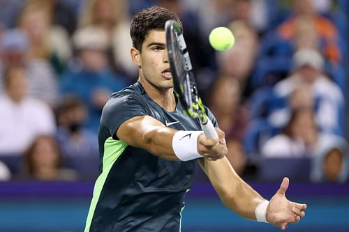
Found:
<svg viewBox="0 0 349 232"><path fill-rule="evenodd" d="M61 93L76 95L84 102L89 113L85 128L96 133L105 102L127 82L110 70L107 63L108 38L103 29L80 29L74 34L73 42L77 49L77 62L62 75Z"/></svg>

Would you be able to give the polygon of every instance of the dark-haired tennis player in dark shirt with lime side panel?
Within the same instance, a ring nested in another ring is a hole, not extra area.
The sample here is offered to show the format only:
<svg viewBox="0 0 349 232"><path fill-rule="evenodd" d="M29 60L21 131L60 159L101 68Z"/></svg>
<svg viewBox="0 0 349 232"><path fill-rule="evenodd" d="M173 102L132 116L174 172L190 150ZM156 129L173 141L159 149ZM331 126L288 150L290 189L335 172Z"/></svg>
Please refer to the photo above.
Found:
<svg viewBox="0 0 349 232"><path fill-rule="evenodd" d="M209 109L218 139L207 139L200 122L182 113L168 63L167 20L181 25L177 15L160 7L133 18L131 57L139 79L114 93L103 109L101 174L84 231L180 231L184 196L193 185L197 161L225 206L242 217L281 229L299 222L306 205L285 198L288 178L270 201L262 198L230 166L224 133Z"/></svg>

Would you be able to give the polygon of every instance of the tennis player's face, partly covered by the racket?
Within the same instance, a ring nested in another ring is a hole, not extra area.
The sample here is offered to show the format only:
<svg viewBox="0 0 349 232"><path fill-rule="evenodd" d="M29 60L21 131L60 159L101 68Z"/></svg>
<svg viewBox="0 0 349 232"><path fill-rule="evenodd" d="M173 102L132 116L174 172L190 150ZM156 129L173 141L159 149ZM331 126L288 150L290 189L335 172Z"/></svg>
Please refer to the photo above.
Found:
<svg viewBox="0 0 349 232"><path fill-rule="evenodd" d="M142 44L139 54L140 78L160 91L173 87L165 31L151 30Z"/></svg>

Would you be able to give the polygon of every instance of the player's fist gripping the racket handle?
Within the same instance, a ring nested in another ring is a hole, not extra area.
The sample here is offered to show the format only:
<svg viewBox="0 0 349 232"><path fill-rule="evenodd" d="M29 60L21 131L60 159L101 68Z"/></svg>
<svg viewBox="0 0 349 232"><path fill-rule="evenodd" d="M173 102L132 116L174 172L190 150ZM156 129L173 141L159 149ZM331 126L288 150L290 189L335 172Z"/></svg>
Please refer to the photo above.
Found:
<svg viewBox="0 0 349 232"><path fill-rule="evenodd" d="M228 154L227 144L225 144L224 132L216 128L217 139L208 139L204 133L198 138L198 152L207 160L218 160Z"/></svg>

